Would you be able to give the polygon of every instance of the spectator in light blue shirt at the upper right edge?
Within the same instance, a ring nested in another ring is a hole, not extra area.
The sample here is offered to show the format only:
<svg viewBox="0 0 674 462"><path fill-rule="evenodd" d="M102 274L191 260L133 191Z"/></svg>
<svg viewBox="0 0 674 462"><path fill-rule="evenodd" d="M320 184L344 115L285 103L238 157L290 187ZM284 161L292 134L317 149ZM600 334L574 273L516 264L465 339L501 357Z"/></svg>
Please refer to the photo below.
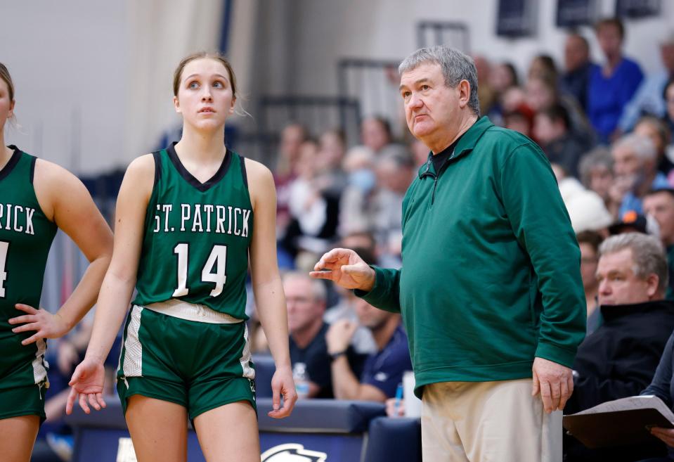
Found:
<svg viewBox="0 0 674 462"><path fill-rule="evenodd" d="M670 79L674 79L674 32L660 43L660 58L663 70L647 75L630 102L625 106L618 128L630 131L644 114L664 117L666 113L663 91Z"/></svg>

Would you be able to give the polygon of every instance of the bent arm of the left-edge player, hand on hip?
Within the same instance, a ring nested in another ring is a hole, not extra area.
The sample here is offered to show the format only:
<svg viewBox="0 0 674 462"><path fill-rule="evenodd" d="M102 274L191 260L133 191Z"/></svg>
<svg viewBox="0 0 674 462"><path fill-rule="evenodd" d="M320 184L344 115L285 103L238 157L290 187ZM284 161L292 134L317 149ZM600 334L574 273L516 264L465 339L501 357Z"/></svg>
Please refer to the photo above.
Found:
<svg viewBox="0 0 674 462"><path fill-rule="evenodd" d="M63 167L37 160L34 188L46 217L74 240L89 260L89 267L56 314L26 304L16 304L16 308L25 314L10 320L13 324L22 323L13 331L37 331L23 340L24 345L40 338L60 337L82 319L96 302L112 256L112 231L82 181Z"/></svg>

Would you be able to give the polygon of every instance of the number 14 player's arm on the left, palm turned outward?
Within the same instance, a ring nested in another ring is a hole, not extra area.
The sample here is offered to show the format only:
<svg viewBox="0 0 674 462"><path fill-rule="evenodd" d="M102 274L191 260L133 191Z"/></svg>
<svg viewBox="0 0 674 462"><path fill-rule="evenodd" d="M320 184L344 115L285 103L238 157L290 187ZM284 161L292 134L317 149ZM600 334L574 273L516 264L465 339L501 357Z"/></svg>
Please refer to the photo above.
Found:
<svg viewBox="0 0 674 462"><path fill-rule="evenodd" d="M124 174L117 196L115 212L115 247L112 261L101 285L96 316L89 347L82 363L75 368L70 385L66 413L79 396L79 405L86 413L105 406L103 392L103 361L110 352L119 326L122 325L136 285L138 260L141 255L145 210L152 194L155 164L152 155L144 155L131 162Z"/></svg>

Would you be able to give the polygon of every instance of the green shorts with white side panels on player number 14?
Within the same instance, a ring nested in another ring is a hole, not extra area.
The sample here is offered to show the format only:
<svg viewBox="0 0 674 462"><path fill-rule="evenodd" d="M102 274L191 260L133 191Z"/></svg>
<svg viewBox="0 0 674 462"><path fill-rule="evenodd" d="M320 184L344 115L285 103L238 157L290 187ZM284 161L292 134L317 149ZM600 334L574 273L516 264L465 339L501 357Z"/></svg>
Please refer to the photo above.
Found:
<svg viewBox="0 0 674 462"><path fill-rule="evenodd" d="M255 408L246 323L223 321L212 309L184 302L176 317L175 310L160 309L166 305L134 305L127 316L117 371L124 412L134 394L180 404L191 420L238 401Z"/></svg>

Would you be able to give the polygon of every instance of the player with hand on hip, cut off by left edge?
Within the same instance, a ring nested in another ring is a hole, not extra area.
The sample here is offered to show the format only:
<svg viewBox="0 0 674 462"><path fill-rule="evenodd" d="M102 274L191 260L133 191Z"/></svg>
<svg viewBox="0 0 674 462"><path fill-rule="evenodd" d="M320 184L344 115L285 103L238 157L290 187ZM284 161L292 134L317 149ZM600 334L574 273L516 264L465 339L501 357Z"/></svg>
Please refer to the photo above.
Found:
<svg viewBox="0 0 674 462"><path fill-rule="evenodd" d="M27 462L44 420L46 338L58 338L96 302L112 255L112 233L84 185L67 170L5 146L14 86L0 63L0 458ZM89 268L56 314L39 309L44 267L57 228Z"/></svg>

